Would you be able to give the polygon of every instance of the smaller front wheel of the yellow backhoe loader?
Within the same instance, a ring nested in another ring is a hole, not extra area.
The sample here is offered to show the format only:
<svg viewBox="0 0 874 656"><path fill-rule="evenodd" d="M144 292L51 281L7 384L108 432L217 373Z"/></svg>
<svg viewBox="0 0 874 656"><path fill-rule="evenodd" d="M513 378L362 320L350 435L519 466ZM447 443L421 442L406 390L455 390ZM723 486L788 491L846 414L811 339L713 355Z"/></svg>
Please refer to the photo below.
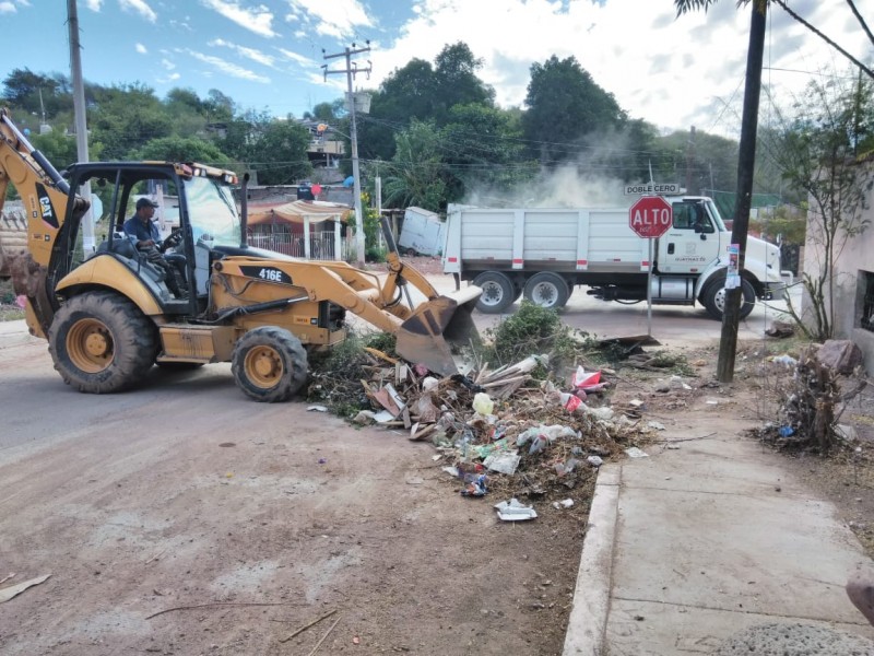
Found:
<svg viewBox="0 0 874 656"><path fill-rule="evenodd" d="M268 403L287 401L307 379L307 352L284 328L256 328L234 347L231 371L249 398Z"/></svg>

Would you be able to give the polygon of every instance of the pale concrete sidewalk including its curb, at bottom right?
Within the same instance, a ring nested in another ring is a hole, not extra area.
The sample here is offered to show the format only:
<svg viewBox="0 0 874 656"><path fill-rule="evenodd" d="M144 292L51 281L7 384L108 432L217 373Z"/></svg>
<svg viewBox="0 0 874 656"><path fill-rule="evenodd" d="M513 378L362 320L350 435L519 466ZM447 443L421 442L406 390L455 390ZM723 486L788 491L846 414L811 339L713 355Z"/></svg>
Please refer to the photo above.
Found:
<svg viewBox="0 0 874 656"><path fill-rule="evenodd" d="M835 507L784 471L784 456L690 430L665 437L687 440L674 449L602 468L565 656L711 654L767 623L874 639L843 589L872 561Z"/></svg>

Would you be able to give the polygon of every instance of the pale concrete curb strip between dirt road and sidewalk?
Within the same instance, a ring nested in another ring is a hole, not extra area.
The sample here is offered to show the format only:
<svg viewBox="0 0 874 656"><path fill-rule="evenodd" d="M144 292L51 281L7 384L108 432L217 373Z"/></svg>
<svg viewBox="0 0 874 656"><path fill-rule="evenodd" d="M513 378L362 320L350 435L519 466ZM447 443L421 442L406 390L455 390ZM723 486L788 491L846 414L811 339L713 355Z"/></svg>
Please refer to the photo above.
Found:
<svg viewBox="0 0 874 656"><path fill-rule="evenodd" d="M563 656L598 656L603 653L621 482L621 465L604 465L598 472Z"/></svg>

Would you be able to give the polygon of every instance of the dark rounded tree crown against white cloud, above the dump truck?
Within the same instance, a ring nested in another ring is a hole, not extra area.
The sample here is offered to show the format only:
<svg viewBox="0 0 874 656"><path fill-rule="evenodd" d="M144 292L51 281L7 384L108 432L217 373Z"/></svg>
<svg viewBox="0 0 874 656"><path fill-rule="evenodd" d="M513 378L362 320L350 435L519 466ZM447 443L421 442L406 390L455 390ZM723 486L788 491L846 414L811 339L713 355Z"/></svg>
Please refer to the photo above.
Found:
<svg viewBox="0 0 874 656"><path fill-rule="evenodd" d="M613 94L605 92L574 57L553 55L531 66L522 119L525 139L536 144L541 163L572 160L582 138L606 132L626 120Z"/></svg>

